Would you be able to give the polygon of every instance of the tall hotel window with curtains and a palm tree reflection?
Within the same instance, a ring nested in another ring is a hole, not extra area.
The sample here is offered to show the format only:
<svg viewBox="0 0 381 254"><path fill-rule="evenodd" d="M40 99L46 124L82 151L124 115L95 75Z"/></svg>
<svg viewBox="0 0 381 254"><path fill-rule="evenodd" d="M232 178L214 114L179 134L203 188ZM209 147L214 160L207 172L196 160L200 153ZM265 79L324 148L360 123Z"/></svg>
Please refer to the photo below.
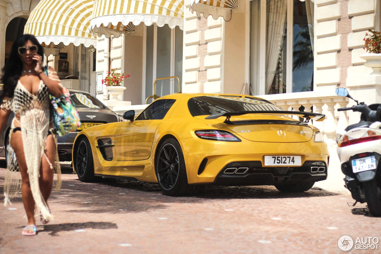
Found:
<svg viewBox="0 0 381 254"><path fill-rule="evenodd" d="M253 95L314 88L314 0L250 2L250 91Z"/></svg>

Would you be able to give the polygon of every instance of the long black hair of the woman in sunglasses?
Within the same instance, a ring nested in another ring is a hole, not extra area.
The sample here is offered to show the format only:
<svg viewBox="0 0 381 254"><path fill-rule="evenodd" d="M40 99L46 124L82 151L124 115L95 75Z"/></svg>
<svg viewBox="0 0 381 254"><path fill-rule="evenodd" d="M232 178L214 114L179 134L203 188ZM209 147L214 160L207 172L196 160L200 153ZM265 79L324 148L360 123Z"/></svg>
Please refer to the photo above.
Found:
<svg viewBox="0 0 381 254"><path fill-rule="evenodd" d="M13 42L9 58L2 69L0 83L3 84L3 95L1 97L13 97L14 89L16 88L22 72L22 61L19 58L18 48L24 46L28 40L37 46L37 54L42 57L42 61L44 60L43 47L34 35L23 34L17 37Z"/></svg>

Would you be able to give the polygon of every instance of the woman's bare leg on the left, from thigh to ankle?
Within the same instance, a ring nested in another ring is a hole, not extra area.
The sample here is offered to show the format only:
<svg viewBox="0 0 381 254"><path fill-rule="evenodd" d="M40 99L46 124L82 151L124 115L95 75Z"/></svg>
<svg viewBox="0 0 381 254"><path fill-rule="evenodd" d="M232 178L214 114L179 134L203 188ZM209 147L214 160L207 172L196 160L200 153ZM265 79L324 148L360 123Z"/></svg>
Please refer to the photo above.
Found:
<svg viewBox="0 0 381 254"><path fill-rule="evenodd" d="M33 199L32 190L30 189L29 174L27 173L28 167L25 160L21 131L16 131L12 133L10 143L14 152L16 153L16 159L17 159L19 170L21 173L22 204L24 204L24 209L28 219L28 225L36 225L36 221L34 219L35 202Z"/></svg>

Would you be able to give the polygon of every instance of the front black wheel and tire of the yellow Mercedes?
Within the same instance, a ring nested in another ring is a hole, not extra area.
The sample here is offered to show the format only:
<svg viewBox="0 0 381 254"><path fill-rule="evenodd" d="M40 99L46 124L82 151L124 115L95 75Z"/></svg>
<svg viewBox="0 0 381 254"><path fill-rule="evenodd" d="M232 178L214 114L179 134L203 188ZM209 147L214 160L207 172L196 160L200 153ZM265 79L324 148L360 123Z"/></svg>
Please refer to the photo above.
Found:
<svg viewBox="0 0 381 254"><path fill-rule="evenodd" d="M80 138L76 147L75 162L73 163L75 172L81 182L95 182L93 153L90 142L86 137Z"/></svg>

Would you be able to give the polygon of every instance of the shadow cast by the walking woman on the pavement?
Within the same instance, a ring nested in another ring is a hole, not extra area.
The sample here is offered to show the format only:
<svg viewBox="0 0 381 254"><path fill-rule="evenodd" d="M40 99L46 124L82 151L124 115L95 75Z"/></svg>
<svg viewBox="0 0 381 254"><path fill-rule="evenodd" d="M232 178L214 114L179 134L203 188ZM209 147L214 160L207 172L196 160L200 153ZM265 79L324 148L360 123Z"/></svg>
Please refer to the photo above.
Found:
<svg viewBox="0 0 381 254"><path fill-rule="evenodd" d="M73 231L77 229L118 229L117 224L111 222L83 222L83 223L62 223L43 226L43 230L37 230L37 233L50 232L51 236L59 236L62 231Z"/></svg>

